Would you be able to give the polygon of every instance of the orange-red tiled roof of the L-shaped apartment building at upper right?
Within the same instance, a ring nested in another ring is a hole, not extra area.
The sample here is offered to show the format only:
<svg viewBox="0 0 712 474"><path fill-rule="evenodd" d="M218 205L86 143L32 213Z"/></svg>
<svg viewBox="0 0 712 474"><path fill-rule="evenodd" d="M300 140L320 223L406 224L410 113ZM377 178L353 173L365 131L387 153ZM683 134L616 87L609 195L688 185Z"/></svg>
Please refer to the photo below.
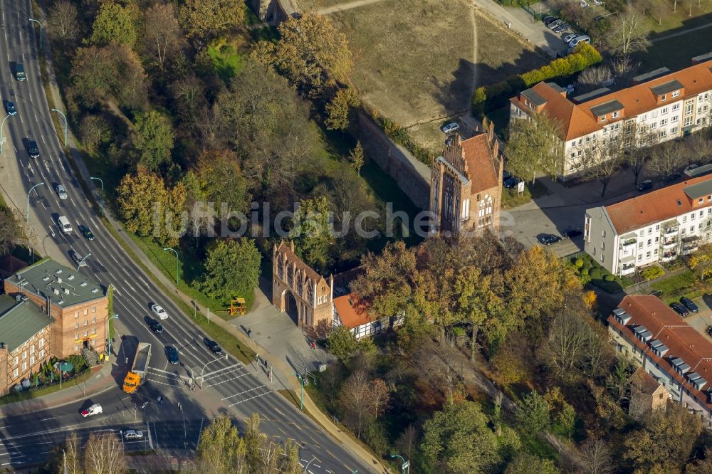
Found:
<svg viewBox="0 0 712 474"><path fill-rule="evenodd" d="M691 65L689 68L675 71L644 83L632 85L629 88L617 90L609 94L600 95L586 102L575 104L563 97L557 90L547 83L538 83L532 89L544 98L547 103L543 110L559 120L562 125L562 137L566 140L588 135L596 130L601 130L604 125L620 120L635 117L649 110L661 107L657 103L656 95L650 90L655 86L677 80L682 84L683 90L679 97L671 98L669 102L684 100L701 92L712 90L712 60ZM591 107L617 100L623 105L620 117L614 120L607 120L604 124L598 123L597 117L591 112ZM511 102L520 107L525 112L528 110L523 102L518 98L512 98Z"/></svg>

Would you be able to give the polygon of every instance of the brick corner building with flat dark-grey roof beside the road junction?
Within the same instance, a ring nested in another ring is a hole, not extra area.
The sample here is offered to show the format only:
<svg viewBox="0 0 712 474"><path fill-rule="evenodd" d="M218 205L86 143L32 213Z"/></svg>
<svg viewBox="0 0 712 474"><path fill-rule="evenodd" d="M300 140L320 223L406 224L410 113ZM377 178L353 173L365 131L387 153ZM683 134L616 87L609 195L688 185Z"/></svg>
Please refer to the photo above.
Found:
<svg viewBox="0 0 712 474"><path fill-rule="evenodd" d="M108 288L73 268L45 258L4 280L5 293L20 295L53 318L52 355L83 349L104 352L108 339Z"/></svg>

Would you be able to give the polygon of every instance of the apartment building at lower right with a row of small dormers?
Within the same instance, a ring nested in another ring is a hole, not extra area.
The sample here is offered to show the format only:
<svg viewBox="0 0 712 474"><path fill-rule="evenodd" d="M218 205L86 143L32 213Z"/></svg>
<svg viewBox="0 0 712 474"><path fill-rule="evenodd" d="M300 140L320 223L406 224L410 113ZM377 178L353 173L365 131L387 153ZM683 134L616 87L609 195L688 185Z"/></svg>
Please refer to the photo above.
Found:
<svg viewBox="0 0 712 474"><path fill-rule="evenodd" d="M712 342L653 295L624 297L608 317L608 332L619 354L712 428Z"/></svg>

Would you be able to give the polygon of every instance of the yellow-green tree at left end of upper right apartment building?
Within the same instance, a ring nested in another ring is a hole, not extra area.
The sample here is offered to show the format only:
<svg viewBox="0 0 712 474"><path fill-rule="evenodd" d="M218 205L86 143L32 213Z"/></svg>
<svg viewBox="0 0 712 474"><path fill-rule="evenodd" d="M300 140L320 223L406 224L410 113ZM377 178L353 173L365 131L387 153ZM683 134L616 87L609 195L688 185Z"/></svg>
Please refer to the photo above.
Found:
<svg viewBox="0 0 712 474"><path fill-rule="evenodd" d="M538 173L555 177L562 169L560 124L544 113L513 120L506 144L508 170L525 181Z"/></svg>

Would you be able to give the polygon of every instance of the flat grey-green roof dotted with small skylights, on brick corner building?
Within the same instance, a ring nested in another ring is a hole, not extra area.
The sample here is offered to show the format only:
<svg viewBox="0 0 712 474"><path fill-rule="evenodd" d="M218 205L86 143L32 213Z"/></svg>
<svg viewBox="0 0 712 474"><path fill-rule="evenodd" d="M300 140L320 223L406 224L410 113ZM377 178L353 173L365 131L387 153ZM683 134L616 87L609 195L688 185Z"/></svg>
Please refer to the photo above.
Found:
<svg viewBox="0 0 712 474"><path fill-rule="evenodd" d="M105 286L51 258L23 268L8 280L13 285L19 285L23 292L43 298L51 297L53 304L60 307L78 305L108 295Z"/></svg>

